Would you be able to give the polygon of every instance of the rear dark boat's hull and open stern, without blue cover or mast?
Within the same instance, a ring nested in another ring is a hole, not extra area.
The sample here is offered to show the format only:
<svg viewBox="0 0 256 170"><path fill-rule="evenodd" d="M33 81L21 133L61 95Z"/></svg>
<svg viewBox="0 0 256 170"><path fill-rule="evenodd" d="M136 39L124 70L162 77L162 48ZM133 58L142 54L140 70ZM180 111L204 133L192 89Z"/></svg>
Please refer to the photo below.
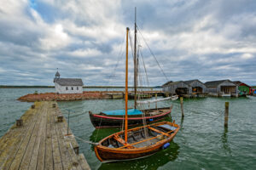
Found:
<svg viewBox="0 0 256 170"><path fill-rule="evenodd" d="M143 120L147 123L156 122L169 116L172 111L171 107L158 108L158 109L148 109L143 110L144 116L140 115L130 115L128 116L128 126L137 126L143 124ZM103 112L99 114L92 114L89 111L90 122L96 128L106 128L106 127L121 127L125 122L124 115L107 115Z"/></svg>

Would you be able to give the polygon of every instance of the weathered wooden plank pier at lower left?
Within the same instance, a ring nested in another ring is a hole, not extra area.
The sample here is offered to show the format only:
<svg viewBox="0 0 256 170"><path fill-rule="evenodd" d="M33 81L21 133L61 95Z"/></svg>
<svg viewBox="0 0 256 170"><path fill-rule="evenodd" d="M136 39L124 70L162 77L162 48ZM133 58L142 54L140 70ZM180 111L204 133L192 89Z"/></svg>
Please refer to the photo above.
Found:
<svg viewBox="0 0 256 170"><path fill-rule="evenodd" d="M90 169L61 117L55 102L35 102L0 139L0 169Z"/></svg>

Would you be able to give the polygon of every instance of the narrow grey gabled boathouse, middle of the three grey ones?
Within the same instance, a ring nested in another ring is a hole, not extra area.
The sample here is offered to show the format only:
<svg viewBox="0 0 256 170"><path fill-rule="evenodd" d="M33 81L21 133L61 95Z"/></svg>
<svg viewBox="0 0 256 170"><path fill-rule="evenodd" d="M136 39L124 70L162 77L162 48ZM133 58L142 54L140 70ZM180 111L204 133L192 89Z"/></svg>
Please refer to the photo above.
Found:
<svg viewBox="0 0 256 170"><path fill-rule="evenodd" d="M188 80L188 81L184 81L184 82L192 88L193 95L205 94L207 91L206 85L197 79Z"/></svg>

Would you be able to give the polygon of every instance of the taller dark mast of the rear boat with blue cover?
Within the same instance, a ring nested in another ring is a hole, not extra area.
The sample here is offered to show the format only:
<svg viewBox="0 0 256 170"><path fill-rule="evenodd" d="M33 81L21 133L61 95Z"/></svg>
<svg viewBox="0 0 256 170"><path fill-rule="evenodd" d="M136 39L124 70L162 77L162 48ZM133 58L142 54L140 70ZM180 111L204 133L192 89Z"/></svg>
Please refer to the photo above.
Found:
<svg viewBox="0 0 256 170"><path fill-rule="evenodd" d="M137 109L137 25L136 25L136 7L134 22L134 109Z"/></svg>

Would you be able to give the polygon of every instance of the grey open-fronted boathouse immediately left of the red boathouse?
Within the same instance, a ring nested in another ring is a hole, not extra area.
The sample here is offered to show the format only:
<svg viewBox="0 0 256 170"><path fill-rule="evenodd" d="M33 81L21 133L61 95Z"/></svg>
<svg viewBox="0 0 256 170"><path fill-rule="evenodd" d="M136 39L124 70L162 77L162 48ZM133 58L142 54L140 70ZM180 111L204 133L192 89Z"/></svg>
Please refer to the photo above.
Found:
<svg viewBox="0 0 256 170"><path fill-rule="evenodd" d="M206 82L207 93L212 96L235 96L238 97L238 87L230 80L218 80Z"/></svg>

